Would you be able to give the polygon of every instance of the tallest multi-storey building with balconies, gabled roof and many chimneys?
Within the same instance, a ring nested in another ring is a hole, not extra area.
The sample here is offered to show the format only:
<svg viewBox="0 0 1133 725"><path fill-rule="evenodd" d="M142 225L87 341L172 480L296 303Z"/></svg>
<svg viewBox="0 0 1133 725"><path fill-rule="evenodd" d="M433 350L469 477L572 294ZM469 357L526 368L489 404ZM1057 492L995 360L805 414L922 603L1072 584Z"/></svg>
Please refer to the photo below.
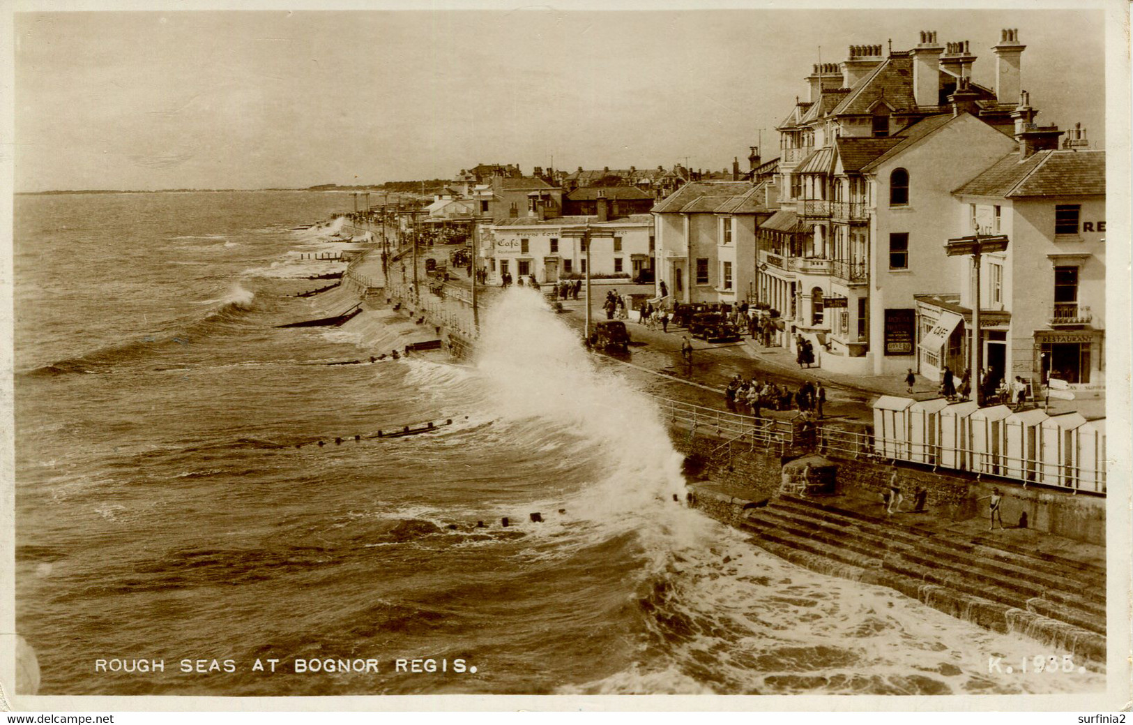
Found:
<svg viewBox="0 0 1133 725"><path fill-rule="evenodd" d="M778 126L778 212L759 231L759 300L784 336L838 372L917 365L915 295L940 292L952 191L1013 146L1017 33L995 47L996 87L971 81L969 43L922 32L908 51L851 45L818 64Z"/></svg>

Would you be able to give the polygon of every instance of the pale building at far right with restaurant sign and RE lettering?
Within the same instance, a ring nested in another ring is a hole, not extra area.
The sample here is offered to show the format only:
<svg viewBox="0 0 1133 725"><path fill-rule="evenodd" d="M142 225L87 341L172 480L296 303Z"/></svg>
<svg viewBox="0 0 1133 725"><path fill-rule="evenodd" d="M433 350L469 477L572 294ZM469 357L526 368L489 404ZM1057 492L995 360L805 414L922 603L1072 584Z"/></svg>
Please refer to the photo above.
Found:
<svg viewBox="0 0 1133 725"><path fill-rule="evenodd" d="M1064 132L1034 127L1033 117L1024 94L1017 149L955 189L955 236L1008 239L981 261L979 344L996 377L1021 376L1038 389L1049 373L1072 388L1104 388L1106 152L1088 149L1080 127L1058 149ZM956 279L969 279L972 262L961 262ZM970 360L974 294L954 292L918 301L922 370Z"/></svg>

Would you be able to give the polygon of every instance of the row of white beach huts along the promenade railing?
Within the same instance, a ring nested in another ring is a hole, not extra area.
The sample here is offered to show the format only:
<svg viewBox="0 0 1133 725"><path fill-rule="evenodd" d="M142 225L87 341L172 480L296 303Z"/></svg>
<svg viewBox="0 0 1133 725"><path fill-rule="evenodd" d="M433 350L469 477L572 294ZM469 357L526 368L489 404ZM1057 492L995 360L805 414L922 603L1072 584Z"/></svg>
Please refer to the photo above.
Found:
<svg viewBox="0 0 1133 725"><path fill-rule="evenodd" d="M872 407L874 452L884 458L1106 492L1105 419L891 395Z"/></svg>

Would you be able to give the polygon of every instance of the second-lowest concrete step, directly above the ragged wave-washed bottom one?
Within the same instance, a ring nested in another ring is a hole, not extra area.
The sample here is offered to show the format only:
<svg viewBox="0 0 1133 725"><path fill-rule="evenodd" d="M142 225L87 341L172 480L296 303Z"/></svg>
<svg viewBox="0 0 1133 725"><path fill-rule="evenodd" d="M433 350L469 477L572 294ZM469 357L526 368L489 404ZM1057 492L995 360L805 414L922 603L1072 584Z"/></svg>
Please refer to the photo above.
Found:
<svg viewBox="0 0 1133 725"><path fill-rule="evenodd" d="M1085 602L1075 599L1070 592L1064 593L1070 599L1068 602L1058 601L1046 598L1043 595L1047 590L1042 587L1026 585L1021 581L1005 580L995 574L989 575L982 571L980 566L982 562L979 558L960 559L957 554L948 549L945 549L945 558L938 558L938 555L926 554L917 545L897 542L859 529L798 516L790 509L767 507L756 517L760 523L770 524L780 532L789 533L796 539L817 541L846 549L857 556L880 559L885 568L913 579L1040 613L1099 634L1105 633L1105 609L1084 606Z"/></svg>

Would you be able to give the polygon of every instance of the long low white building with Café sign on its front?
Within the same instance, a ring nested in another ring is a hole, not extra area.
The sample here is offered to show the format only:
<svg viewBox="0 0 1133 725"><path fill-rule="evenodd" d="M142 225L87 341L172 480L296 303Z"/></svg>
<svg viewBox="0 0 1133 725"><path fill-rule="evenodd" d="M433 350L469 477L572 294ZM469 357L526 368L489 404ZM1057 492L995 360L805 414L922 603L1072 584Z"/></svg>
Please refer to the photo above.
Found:
<svg viewBox="0 0 1133 725"><path fill-rule="evenodd" d="M585 275L587 254L581 237L587 228L591 276L636 279L653 269L650 214L503 219L484 229L480 253L487 258L488 284L500 284L504 272L517 278L534 276L539 283Z"/></svg>

